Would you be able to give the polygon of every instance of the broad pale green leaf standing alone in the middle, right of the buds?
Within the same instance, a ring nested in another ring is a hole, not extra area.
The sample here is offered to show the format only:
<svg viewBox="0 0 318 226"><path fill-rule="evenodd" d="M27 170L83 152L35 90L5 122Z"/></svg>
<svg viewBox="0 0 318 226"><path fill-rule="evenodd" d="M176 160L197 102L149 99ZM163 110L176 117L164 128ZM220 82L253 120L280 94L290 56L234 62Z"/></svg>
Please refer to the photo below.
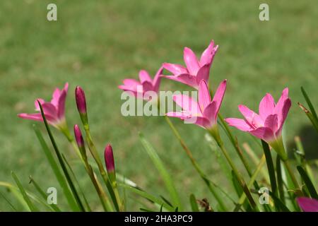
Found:
<svg viewBox="0 0 318 226"><path fill-rule="evenodd" d="M167 188L167 191L170 194L170 198L172 200L173 205L181 209L182 205L179 200L179 194L177 193L177 189L175 189L175 185L172 181L172 178L170 177L170 174L165 169L165 166L163 165L163 162L161 161L159 155L156 153L153 146L148 141L146 141L146 139L143 137L141 133L139 133L139 138L141 140L141 143L143 144L143 148L145 148L149 157L151 157L153 164L158 169L160 176L163 178L163 181L165 182L165 186Z"/></svg>

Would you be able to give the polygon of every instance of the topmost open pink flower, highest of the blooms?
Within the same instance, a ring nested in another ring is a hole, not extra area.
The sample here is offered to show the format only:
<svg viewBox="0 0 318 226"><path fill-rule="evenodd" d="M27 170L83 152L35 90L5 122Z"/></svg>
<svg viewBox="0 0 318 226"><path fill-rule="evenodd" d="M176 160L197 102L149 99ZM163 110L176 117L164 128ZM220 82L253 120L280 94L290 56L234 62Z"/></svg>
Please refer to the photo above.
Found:
<svg viewBox="0 0 318 226"><path fill-rule="evenodd" d="M163 76L180 83L199 88L199 83L203 79L208 82L211 64L218 50L218 45L214 46L213 40L210 42L206 50L201 54L201 58L197 59L196 55L187 47L184 48L184 63L187 68L179 64L164 63L163 67L170 71L173 76Z"/></svg>

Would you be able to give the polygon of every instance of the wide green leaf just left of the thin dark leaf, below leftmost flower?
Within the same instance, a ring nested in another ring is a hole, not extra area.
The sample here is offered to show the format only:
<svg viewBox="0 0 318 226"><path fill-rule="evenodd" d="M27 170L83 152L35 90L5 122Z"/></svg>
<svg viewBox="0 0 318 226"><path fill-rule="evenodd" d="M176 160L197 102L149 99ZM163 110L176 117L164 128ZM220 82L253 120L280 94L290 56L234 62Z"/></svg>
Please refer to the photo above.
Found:
<svg viewBox="0 0 318 226"><path fill-rule="evenodd" d="M40 130L37 128L35 124L33 124L33 129L35 131L37 139L40 142L42 150L44 151L45 156L47 157L49 165L51 166L54 172L54 175L55 177L57 177L57 181L59 182L59 185L61 186L61 189L63 190L63 193L66 197L67 202L69 203L69 206L71 207L73 211L78 211L76 201L73 195L71 194L71 191L69 190L69 186L67 185L66 180L63 174L61 173L59 165L57 165L57 162L51 153L51 150L49 150L49 147L47 146L47 143L45 142L45 139L43 138L42 133L40 132Z"/></svg>

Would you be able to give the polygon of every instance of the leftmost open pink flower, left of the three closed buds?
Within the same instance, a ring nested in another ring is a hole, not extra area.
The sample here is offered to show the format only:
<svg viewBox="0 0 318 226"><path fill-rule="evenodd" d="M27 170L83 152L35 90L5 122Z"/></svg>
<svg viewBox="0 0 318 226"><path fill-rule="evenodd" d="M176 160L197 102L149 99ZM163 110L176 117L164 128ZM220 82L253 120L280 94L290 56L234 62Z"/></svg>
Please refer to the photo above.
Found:
<svg viewBox="0 0 318 226"><path fill-rule="evenodd" d="M51 102L45 102L43 99L35 100L35 110L40 112L40 106L37 103L37 101L39 101L42 105L47 122L58 129L62 129L65 124L65 100L68 88L69 83L66 83L62 90L56 88L54 90ZM22 113L18 114L18 117L35 121L43 121L41 112L34 114Z"/></svg>

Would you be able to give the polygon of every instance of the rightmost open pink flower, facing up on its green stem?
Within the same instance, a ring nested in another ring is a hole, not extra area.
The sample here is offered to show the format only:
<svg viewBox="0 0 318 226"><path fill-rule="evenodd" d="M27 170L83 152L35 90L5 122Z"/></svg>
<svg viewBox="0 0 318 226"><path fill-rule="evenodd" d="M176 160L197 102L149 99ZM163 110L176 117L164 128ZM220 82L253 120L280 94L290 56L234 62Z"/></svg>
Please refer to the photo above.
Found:
<svg viewBox="0 0 318 226"><path fill-rule="evenodd" d="M225 121L230 126L249 132L267 143L272 143L281 138L281 130L290 105L288 88L285 88L277 104L275 104L271 94L267 93L259 103L259 114L245 105L239 105L238 108L245 119L228 118Z"/></svg>

